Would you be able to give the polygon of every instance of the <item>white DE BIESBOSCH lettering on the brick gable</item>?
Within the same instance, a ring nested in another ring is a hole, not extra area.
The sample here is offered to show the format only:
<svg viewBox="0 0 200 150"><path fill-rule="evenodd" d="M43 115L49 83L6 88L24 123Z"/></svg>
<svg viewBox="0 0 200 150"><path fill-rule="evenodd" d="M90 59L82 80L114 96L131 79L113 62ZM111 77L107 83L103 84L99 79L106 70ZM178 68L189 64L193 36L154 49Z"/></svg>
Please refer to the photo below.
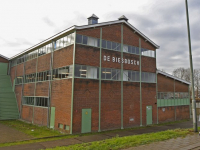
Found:
<svg viewBox="0 0 200 150"><path fill-rule="evenodd" d="M104 61L112 61L115 63L122 63L122 64L130 64L130 65L140 65L139 60L133 60L133 59L126 59L126 58L121 58L120 57L110 57L110 56L103 56Z"/></svg>

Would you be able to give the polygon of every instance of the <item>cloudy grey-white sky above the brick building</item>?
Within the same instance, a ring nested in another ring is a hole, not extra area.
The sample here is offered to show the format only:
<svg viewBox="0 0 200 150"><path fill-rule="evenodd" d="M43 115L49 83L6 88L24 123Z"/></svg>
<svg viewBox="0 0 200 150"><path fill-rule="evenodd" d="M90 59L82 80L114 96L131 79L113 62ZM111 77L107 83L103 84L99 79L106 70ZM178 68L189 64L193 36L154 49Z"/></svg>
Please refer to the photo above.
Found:
<svg viewBox="0 0 200 150"><path fill-rule="evenodd" d="M200 68L200 0L188 0L194 68ZM157 68L171 73L189 67L185 0L1 0L0 54L15 54L73 25L121 15L149 37L157 50Z"/></svg>

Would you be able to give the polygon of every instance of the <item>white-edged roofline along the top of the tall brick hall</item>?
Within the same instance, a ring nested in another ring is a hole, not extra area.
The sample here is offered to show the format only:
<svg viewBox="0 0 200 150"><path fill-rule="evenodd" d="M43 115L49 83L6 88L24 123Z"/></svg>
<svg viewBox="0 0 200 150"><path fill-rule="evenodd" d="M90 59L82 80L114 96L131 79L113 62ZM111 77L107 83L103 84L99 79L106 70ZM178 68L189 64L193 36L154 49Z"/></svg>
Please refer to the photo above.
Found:
<svg viewBox="0 0 200 150"><path fill-rule="evenodd" d="M27 53L27 52L29 52L29 51L32 51L32 50L34 50L36 47L38 47L38 46L40 46L40 45L42 45L42 44L45 44L45 43L47 43L47 42L50 42L50 41L52 41L53 39L59 37L59 36L62 35L62 34L65 34L65 33L69 32L69 31L72 31L72 30L80 30L80 29L87 29L87 28L95 28L95 27L99 27L99 26L112 25L112 24L119 24L119 23L124 23L124 24L126 24L126 25L129 26L132 30L134 30L134 31L137 32L139 35L141 35L146 41L148 41L149 43L151 43L154 47L156 47L157 49L160 48L160 46L158 46L157 44L155 44L152 40L150 40L147 36L145 36L142 32L140 32L138 29L136 29L133 25L131 25L131 24L128 23L127 21L125 21L125 20L115 20L115 21L108 21L108 22L102 22L102 23L97 23L97 24L89 24L89 25L83 25L83 26L76 26L76 25L71 26L71 27L69 27L69 28L67 28L67 29L65 29L65 30L63 30L63 31L61 31L61 32L59 32L59 33L57 33L57 34L55 34L54 36L52 36L52 37L50 37L50 38L48 38L48 39L46 39L46 40L44 40L44 41L42 41L42 42L40 42L40 43L38 43L38 44L32 46L32 47L30 47L30 48L28 48L28 49L22 51L21 53L15 55L15 56L13 56L13 57L11 57L10 60L12 60L12 59L14 59L14 58L16 58L16 57L18 57L18 56L21 56L21 55L23 55L24 53Z"/></svg>

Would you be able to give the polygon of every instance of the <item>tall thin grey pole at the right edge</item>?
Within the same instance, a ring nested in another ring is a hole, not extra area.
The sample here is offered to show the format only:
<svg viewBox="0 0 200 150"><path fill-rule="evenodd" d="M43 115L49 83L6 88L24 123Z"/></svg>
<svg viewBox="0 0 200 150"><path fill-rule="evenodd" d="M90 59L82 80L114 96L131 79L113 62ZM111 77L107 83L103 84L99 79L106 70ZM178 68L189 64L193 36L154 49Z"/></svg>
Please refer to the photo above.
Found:
<svg viewBox="0 0 200 150"><path fill-rule="evenodd" d="M188 2L185 0L186 8L186 17L187 17L187 30L188 30L188 44L189 44L189 54L190 54L190 78L192 81L192 114L193 114L193 129L194 132L198 131L197 128L197 113L196 113L196 100L194 97L194 74L193 74L193 64L192 64L192 51L191 51L191 39L190 39L190 23L189 23L189 14L188 14Z"/></svg>

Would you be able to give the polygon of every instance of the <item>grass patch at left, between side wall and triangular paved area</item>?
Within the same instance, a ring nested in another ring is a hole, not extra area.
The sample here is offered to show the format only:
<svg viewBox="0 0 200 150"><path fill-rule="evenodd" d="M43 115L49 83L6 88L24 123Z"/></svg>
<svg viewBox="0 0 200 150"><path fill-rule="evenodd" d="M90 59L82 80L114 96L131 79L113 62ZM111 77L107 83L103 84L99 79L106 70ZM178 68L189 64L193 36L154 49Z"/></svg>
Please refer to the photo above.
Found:
<svg viewBox="0 0 200 150"><path fill-rule="evenodd" d="M34 138L43 138L43 137L50 137L50 136L60 136L64 135L59 131L49 129L44 126L37 126L29 123L25 123L19 120L7 120L7 121L0 121L0 123L7 125L9 127L15 128L18 131L21 131L27 135L30 135Z"/></svg>

